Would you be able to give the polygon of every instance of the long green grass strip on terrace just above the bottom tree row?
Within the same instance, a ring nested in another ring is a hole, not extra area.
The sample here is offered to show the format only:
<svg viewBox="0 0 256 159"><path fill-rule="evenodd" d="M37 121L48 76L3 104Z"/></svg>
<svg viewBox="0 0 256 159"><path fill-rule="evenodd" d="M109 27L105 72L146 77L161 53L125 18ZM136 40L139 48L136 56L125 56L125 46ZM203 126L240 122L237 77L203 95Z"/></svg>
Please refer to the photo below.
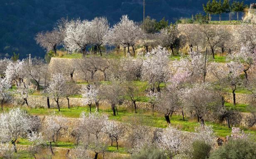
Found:
<svg viewBox="0 0 256 159"><path fill-rule="evenodd" d="M231 104L226 104L226 106L232 106ZM236 106L239 109L243 109L245 105L237 105ZM33 115L49 115L52 112L58 113L57 109L51 108L24 108L28 113ZM8 110L7 108L5 110ZM244 108L245 110L245 108ZM61 114L66 117L71 118L79 118L81 112L89 112L89 107L73 107L73 108L61 108ZM95 108L92 108L92 111L95 111ZM110 120L116 120L123 123L134 123L134 121L143 121L143 125L157 127L157 128L166 128L167 123L165 121L165 118L163 114L158 112L152 111L145 111L145 110L138 110L138 113L135 114L132 108L124 108L120 107L118 108L118 115L113 116L112 110L110 109L110 106L100 106L100 113L106 113L109 116ZM1 111L0 111L1 112ZM227 135L230 135L231 129L227 127L227 125L221 124L221 123L213 123L206 121L207 125L212 125L214 132L219 137L226 137ZM182 119L182 116L180 115L173 115L171 118L171 125L179 128L180 130L194 132L194 127L198 126L199 123L197 122L197 119L190 119L185 117L185 120ZM246 128L241 127L245 130L247 133L251 133L252 136L256 139L256 131L249 130ZM67 147L70 145L66 145Z"/></svg>

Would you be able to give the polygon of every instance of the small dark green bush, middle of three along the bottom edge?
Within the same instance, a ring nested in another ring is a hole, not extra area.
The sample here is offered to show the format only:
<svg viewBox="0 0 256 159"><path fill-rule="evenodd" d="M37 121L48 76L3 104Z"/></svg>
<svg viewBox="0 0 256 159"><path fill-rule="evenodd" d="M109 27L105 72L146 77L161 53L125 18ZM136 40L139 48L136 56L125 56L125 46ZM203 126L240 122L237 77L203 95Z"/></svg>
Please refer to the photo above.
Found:
<svg viewBox="0 0 256 159"><path fill-rule="evenodd" d="M196 140L192 144L192 159L207 159L210 156L212 147L204 141Z"/></svg>

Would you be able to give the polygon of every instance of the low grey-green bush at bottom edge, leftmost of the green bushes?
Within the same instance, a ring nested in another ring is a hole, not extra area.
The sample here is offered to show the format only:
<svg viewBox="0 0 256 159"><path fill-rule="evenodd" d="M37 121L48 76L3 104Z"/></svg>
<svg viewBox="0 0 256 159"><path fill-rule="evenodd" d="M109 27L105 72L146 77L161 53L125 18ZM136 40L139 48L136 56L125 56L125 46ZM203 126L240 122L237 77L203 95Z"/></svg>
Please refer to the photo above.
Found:
<svg viewBox="0 0 256 159"><path fill-rule="evenodd" d="M140 152L133 154L131 159L167 159L164 152L158 147L143 147Z"/></svg>

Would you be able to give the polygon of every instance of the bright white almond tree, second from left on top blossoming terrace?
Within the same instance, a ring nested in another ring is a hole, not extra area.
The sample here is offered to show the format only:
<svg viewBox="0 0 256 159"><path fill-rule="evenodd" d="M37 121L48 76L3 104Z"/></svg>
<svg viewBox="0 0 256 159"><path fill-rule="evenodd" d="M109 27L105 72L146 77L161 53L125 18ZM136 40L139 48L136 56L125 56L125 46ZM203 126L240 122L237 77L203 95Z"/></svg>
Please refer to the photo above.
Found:
<svg viewBox="0 0 256 159"><path fill-rule="evenodd" d="M86 47L90 43L89 29L91 23L87 20L71 20L66 27L64 45L68 51L82 51L86 55Z"/></svg>

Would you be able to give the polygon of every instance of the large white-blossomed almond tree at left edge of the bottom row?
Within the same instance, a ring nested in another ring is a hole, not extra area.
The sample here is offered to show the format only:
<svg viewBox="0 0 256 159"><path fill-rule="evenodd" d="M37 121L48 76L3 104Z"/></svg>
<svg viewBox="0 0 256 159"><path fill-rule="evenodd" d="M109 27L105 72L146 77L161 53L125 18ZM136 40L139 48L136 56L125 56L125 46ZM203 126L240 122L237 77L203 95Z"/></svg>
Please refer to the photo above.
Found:
<svg viewBox="0 0 256 159"><path fill-rule="evenodd" d="M29 118L26 111L15 108L0 114L0 140L12 142L13 149L17 152L16 140L24 137L30 129Z"/></svg>

